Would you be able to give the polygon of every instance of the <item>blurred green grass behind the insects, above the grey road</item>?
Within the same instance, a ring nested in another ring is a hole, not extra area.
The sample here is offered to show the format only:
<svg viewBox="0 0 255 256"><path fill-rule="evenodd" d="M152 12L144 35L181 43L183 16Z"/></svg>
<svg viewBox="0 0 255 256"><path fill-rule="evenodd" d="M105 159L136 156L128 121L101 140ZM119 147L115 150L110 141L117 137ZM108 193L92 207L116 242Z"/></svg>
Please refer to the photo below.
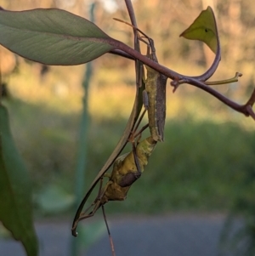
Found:
<svg viewBox="0 0 255 256"><path fill-rule="evenodd" d="M73 193L79 116L16 100L8 102L8 109L35 191L55 184ZM122 118L92 119L87 188L110 156L125 122ZM226 211L238 196L246 172L253 168L254 144L254 134L233 122L168 119L165 142L156 146L141 179L133 184L125 202L111 202L107 211Z"/></svg>

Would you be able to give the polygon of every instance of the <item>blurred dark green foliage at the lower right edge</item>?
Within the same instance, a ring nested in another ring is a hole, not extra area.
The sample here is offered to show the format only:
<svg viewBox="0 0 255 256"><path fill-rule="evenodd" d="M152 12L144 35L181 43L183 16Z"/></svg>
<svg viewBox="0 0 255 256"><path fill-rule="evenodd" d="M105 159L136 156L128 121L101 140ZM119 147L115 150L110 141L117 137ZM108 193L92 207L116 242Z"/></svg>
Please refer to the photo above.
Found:
<svg viewBox="0 0 255 256"><path fill-rule="evenodd" d="M221 233L220 255L231 252L232 255L252 256L255 253L254 174L253 165L250 164L250 167L246 168L246 175L241 177L240 185L236 188L238 195L230 206L230 213ZM236 219L240 220L240 225L236 225Z"/></svg>

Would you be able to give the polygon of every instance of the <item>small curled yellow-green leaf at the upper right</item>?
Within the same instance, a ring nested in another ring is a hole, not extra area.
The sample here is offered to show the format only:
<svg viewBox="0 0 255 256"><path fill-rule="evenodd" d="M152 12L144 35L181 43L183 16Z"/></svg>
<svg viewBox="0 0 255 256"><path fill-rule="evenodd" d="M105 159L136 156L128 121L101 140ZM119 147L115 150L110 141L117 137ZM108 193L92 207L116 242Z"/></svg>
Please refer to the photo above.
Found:
<svg viewBox="0 0 255 256"><path fill-rule="evenodd" d="M180 34L180 37L206 43L216 54L219 45L218 30L212 8L208 6L206 10L203 10L194 22Z"/></svg>

